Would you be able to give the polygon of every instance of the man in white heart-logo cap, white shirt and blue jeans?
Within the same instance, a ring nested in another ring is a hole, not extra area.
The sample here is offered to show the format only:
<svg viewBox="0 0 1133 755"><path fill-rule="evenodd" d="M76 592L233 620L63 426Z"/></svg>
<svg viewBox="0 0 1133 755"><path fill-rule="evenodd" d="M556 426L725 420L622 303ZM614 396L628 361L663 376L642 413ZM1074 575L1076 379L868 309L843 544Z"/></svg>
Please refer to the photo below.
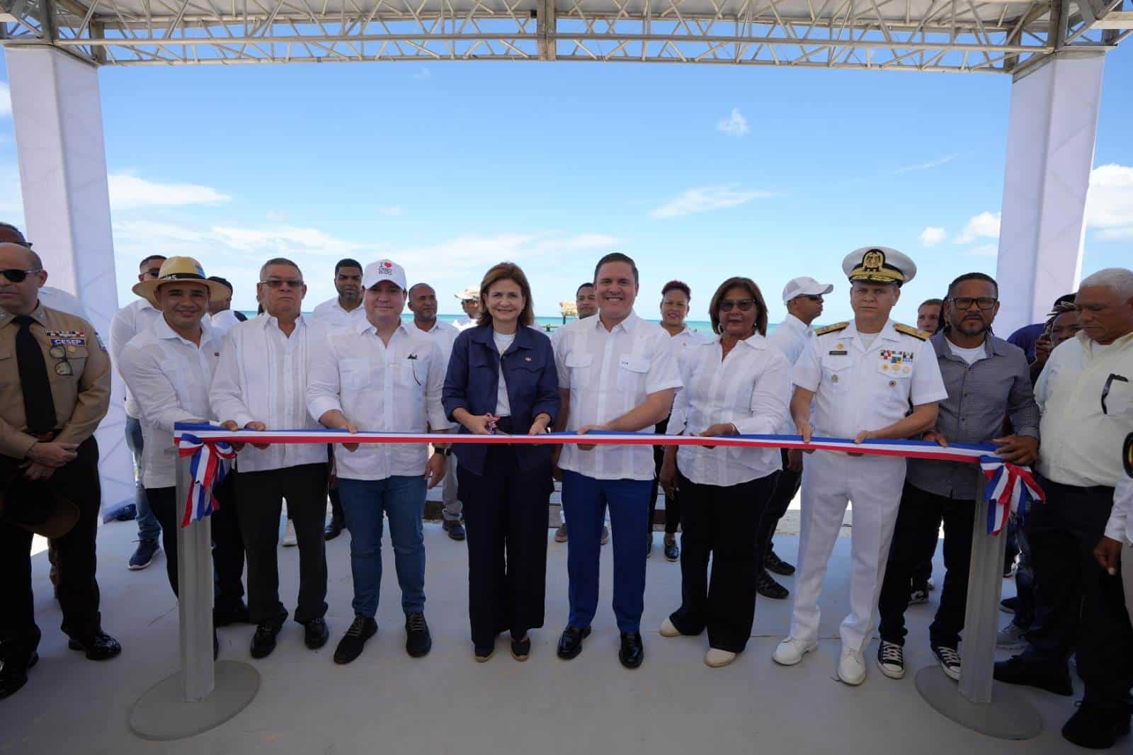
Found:
<svg viewBox="0 0 1133 755"><path fill-rule="evenodd" d="M366 265L361 278L366 321L333 332L312 364L307 409L327 427L357 432L424 433L449 427L441 404L441 346L401 322L406 271L390 260ZM436 432L436 431L434 431ZM446 446L446 444L444 444ZM433 646L425 622L425 541L421 517L426 486L444 477L441 447L426 443L339 443L334 448L339 494L350 531L355 620L334 651L335 663L361 654L377 633L382 584L382 517L390 521L393 562L406 613L406 652L421 658Z"/></svg>

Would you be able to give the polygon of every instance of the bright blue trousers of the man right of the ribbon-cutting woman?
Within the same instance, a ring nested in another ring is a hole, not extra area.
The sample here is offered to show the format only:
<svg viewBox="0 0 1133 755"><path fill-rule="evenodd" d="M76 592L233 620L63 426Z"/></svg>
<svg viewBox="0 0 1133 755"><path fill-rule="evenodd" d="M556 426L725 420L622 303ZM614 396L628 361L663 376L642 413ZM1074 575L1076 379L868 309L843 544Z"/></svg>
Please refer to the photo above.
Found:
<svg viewBox="0 0 1133 755"><path fill-rule="evenodd" d="M570 618L590 626L598 609L602 525L610 507L614 533L614 617L621 631L640 631L645 609L646 529L651 480L596 480L563 469L563 509L570 518L566 574Z"/></svg>

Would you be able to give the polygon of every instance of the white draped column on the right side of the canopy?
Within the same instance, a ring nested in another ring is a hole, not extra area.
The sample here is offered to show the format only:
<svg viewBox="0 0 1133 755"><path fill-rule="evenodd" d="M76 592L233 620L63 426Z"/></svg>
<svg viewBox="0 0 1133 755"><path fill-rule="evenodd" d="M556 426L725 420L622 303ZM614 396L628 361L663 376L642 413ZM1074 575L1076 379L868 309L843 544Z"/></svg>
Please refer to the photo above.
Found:
<svg viewBox="0 0 1133 755"><path fill-rule="evenodd" d="M996 330L1043 322L1077 288L1105 54L1059 52L1011 87Z"/></svg>

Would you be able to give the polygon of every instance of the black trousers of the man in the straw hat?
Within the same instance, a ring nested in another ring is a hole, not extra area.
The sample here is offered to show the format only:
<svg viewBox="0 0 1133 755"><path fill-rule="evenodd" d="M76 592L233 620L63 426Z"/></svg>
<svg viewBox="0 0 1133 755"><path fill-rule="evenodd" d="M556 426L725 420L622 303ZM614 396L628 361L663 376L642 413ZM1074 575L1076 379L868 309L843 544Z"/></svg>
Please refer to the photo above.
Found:
<svg viewBox="0 0 1133 755"><path fill-rule="evenodd" d="M213 537L213 605L218 612L233 611L244 602L244 540L236 516L236 472L230 472L216 489L218 508L211 515ZM177 500L176 487L146 487L150 509L161 525L161 546L165 549L165 574L173 594L177 587L177 531L181 528L185 501Z"/></svg>

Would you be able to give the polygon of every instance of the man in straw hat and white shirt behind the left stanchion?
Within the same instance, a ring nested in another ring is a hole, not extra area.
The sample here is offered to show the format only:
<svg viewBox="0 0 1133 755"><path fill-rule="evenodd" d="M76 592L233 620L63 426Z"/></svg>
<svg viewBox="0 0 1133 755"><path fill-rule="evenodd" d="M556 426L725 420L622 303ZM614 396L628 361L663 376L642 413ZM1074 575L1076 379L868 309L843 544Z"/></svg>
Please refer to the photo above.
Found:
<svg viewBox="0 0 1133 755"><path fill-rule="evenodd" d="M150 508L161 524L169 586L178 593L177 531L185 501L177 500L177 449L173 424L210 422L208 388L220 358L222 336L208 323L208 302L224 298L228 289L207 280L201 263L193 257L169 257L161 263L156 279L134 286L161 311L162 317L126 345L118 368L137 399L142 413L143 484ZM225 423L236 430L236 423ZM235 476L225 478L231 491ZM231 509L230 495L218 491L216 516L212 521L213 566L216 569L216 597L213 617L216 626L248 620L244 604L244 546Z"/></svg>

